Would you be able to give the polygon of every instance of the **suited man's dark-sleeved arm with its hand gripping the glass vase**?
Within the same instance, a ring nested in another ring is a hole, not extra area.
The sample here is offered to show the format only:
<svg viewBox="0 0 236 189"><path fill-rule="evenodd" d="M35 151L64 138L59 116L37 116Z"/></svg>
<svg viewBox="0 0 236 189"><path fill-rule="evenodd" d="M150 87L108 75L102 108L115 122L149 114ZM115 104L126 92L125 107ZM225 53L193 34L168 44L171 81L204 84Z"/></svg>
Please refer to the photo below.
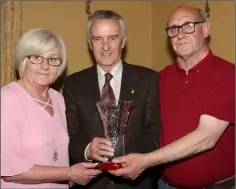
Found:
<svg viewBox="0 0 236 189"><path fill-rule="evenodd" d="M80 118L80 110L75 96L78 95L78 89L74 86L75 81L67 79L63 96L66 104L67 127L70 137L69 155L70 163L73 165L77 162L98 160L105 162L107 156L113 155L112 143L104 138L94 137L91 140L87 136L82 136L82 123ZM105 157L104 157L105 156Z"/></svg>

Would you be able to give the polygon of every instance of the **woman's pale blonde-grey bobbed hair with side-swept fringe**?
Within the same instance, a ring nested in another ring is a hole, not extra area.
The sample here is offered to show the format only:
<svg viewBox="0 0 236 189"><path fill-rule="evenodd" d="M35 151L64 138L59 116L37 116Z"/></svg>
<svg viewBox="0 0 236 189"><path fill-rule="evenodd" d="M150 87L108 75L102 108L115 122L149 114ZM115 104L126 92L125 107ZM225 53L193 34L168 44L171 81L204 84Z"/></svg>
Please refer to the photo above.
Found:
<svg viewBox="0 0 236 189"><path fill-rule="evenodd" d="M15 50L15 69L20 78L24 75L27 56L41 55L52 49L59 49L59 58L62 63L59 67L57 77L59 77L66 67L66 47L63 39L53 31L35 28L27 31L19 40Z"/></svg>

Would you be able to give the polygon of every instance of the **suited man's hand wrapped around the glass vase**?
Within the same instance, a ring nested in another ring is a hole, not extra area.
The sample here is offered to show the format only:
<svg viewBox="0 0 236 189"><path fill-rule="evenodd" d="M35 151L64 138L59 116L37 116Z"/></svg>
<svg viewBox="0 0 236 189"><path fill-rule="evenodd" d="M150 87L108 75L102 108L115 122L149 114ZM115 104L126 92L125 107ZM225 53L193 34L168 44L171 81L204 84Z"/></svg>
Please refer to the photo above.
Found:
<svg viewBox="0 0 236 189"><path fill-rule="evenodd" d="M95 137L87 152L89 159L98 160L100 162L107 162L109 157L114 155L114 148L111 141L105 138Z"/></svg>

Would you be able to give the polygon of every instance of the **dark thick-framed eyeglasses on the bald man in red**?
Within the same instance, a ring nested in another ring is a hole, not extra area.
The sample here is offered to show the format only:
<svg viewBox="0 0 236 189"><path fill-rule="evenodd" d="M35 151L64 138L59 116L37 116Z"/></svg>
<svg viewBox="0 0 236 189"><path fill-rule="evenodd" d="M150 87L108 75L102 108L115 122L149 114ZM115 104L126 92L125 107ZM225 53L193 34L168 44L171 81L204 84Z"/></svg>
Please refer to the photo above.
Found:
<svg viewBox="0 0 236 189"><path fill-rule="evenodd" d="M173 38L176 37L179 33L179 29L182 29L182 32L185 34L191 34L195 32L195 25L204 23L204 21L196 21L196 22L185 22L181 26L170 26L166 28L166 33L168 37Z"/></svg>

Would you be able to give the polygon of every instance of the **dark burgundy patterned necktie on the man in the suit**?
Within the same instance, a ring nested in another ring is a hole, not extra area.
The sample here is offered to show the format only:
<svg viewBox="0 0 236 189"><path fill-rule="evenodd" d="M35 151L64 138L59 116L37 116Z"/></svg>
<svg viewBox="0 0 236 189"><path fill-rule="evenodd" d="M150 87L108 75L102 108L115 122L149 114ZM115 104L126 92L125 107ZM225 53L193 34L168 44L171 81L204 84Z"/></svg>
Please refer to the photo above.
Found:
<svg viewBox="0 0 236 189"><path fill-rule="evenodd" d="M112 101L115 100L115 95L113 89L111 88L110 81L112 79L112 75L110 73L105 74L105 84L102 88L101 92L101 101Z"/></svg>

